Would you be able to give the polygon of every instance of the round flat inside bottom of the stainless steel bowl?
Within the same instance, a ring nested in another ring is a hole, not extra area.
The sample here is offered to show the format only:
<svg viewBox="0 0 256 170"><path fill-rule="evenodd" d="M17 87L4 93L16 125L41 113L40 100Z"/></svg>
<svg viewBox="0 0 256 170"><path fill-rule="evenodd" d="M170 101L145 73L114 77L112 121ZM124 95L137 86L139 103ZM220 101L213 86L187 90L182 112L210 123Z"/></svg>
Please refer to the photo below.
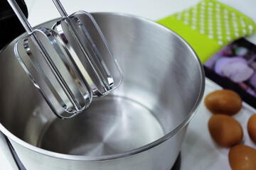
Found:
<svg viewBox="0 0 256 170"><path fill-rule="evenodd" d="M38 147L87 156L121 154L164 136L154 115L141 104L118 96L95 98L84 113L56 119L45 130Z"/></svg>

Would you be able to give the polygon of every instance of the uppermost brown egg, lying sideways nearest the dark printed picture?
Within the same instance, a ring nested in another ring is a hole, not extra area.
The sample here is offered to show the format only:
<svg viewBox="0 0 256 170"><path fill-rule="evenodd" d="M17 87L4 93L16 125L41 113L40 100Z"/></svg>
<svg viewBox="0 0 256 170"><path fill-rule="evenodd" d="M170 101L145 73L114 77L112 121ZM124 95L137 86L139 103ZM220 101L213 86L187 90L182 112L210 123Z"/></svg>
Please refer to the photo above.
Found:
<svg viewBox="0 0 256 170"><path fill-rule="evenodd" d="M212 113L235 115L242 108L240 96L228 89L213 91L204 100L206 107Z"/></svg>

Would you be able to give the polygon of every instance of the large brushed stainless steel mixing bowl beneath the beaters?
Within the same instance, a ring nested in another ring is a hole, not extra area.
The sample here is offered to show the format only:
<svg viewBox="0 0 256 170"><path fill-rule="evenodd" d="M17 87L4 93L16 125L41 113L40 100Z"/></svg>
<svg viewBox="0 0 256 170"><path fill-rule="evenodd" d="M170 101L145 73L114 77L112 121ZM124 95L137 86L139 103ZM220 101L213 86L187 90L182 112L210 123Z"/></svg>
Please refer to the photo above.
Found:
<svg viewBox="0 0 256 170"><path fill-rule="evenodd" d="M0 53L1 132L26 169L171 169L203 96L198 57L153 21L93 16L122 67L122 85L94 98L85 113L60 120L18 64L11 42Z"/></svg>

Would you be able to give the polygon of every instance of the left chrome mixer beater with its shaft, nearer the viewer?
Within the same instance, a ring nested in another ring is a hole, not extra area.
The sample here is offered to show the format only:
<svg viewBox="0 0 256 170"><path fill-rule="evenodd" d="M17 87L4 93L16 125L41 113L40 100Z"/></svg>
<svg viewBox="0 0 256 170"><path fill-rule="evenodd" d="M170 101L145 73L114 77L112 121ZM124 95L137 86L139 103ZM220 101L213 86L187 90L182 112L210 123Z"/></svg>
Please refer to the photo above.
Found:
<svg viewBox="0 0 256 170"><path fill-rule="evenodd" d="M73 57L60 35L50 28L34 30L16 1L8 2L28 33L14 45L18 62L53 113L59 118L72 118L91 102L92 95L87 82L81 81L70 63Z"/></svg>

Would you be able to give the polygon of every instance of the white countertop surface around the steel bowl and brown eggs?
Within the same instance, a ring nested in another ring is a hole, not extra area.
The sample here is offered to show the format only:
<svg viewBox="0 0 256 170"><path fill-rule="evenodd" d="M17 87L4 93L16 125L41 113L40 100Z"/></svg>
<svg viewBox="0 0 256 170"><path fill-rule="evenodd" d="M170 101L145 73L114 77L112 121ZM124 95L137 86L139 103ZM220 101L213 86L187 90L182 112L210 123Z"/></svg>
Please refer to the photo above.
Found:
<svg viewBox="0 0 256 170"><path fill-rule="evenodd" d="M68 13L73 13L78 10L88 12L108 11L108 12L121 12L130 13L136 16L142 16L156 21L160 18L169 16L177 11L182 11L197 4L199 0L62 0L62 4ZM228 4L233 8L238 9L245 15L250 16L256 23L256 1L255 0L220 0L224 4ZM39 0L25 0L28 6L28 21L32 26L49 21L53 18L58 18L58 11L53 6L52 1L39 1ZM76 3L75 3L76 2ZM254 38L256 40L256 36ZM206 81L206 94L210 91L220 87L215 86L210 81ZM242 126L253 109L247 107L246 103L241 113L235 118L240 120ZM210 139L207 129L208 118L210 113L207 111L203 103L196 113L195 117L191 120L188 126L183 147L181 148L181 170L213 170L213 169L230 169L228 164L228 149L218 148ZM246 134L246 133L245 133ZM247 145L256 147L247 136L244 137L244 142ZM0 140L0 169L17 169L14 160L11 160L11 155L6 152L6 144Z"/></svg>

